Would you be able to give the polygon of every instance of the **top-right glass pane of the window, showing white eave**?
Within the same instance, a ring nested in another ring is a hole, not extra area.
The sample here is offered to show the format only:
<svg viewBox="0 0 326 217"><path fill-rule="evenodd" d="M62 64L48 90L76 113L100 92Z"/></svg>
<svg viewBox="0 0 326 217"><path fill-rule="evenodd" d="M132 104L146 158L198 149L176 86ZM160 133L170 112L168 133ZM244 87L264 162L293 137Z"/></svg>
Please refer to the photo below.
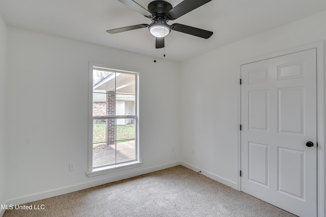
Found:
<svg viewBox="0 0 326 217"><path fill-rule="evenodd" d="M135 94L135 75L117 72L117 94Z"/></svg>

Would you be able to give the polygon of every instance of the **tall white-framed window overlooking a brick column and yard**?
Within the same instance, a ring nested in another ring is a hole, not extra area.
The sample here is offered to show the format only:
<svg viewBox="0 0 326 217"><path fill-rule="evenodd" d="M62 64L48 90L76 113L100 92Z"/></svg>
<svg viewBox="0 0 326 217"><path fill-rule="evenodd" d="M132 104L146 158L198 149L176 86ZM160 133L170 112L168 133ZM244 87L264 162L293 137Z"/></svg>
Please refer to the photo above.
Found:
<svg viewBox="0 0 326 217"><path fill-rule="evenodd" d="M90 74L87 174L139 166L138 73L91 66Z"/></svg>

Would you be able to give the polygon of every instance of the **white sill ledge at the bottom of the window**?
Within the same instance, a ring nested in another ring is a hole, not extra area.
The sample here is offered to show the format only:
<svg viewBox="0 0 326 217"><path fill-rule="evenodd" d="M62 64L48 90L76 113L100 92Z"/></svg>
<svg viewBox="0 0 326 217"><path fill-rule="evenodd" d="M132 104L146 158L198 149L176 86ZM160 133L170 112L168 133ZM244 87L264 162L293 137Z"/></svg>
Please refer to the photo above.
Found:
<svg viewBox="0 0 326 217"><path fill-rule="evenodd" d="M140 166L142 166L142 164L143 164L143 162L133 161L133 162L123 163L123 164L99 167L99 168L93 169L92 171L87 172L86 175L88 177L93 177L93 176L97 176L97 175L103 175L103 174L107 174L107 173L112 173L112 172L117 172L117 171L121 171L121 170L127 170L127 169L140 167Z"/></svg>

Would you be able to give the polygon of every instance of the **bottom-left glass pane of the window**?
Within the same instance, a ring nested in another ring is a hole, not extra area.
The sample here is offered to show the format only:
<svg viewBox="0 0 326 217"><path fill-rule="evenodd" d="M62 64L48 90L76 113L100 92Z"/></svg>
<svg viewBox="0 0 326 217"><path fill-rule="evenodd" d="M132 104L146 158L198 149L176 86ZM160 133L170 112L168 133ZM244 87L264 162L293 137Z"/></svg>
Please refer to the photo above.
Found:
<svg viewBox="0 0 326 217"><path fill-rule="evenodd" d="M93 167L116 163L116 144L108 142L93 144Z"/></svg>

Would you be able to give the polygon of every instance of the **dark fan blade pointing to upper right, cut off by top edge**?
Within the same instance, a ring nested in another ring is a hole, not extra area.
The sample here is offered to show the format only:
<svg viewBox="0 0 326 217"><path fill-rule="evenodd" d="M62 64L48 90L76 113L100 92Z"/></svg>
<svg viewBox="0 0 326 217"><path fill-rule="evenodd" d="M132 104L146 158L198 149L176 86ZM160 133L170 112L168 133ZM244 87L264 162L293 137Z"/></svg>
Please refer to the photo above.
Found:
<svg viewBox="0 0 326 217"><path fill-rule="evenodd" d="M175 20L210 1L211 0L184 0L168 12L169 20Z"/></svg>

